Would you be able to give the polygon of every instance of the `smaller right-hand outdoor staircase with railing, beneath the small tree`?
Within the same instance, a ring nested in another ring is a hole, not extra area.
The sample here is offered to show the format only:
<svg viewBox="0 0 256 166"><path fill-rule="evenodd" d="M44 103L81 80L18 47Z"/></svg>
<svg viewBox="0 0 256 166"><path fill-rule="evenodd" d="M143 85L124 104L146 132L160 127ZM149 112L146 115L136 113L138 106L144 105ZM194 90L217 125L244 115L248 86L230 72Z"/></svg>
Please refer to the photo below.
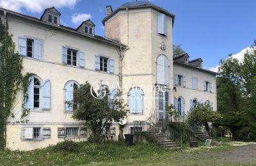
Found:
<svg viewBox="0 0 256 166"><path fill-rule="evenodd" d="M193 132L195 134L196 138L203 140L203 141L205 141L207 139L211 139L212 146L220 145L220 142L215 140L214 132L212 130L211 130L211 132L207 132L205 130L205 127L202 124L194 124L193 126L191 126L190 130L191 130L191 132Z"/></svg>

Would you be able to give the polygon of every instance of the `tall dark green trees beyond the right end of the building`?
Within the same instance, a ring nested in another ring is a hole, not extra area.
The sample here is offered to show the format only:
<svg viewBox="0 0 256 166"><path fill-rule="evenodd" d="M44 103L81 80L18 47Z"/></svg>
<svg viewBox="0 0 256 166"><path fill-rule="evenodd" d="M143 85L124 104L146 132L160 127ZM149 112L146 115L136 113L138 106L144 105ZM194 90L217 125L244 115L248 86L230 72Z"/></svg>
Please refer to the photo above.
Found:
<svg viewBox="0 0 256 166"><path fill-rule="evenodd" d="M231 56L221 61L217 78L218 125L235 140L256 140L256 41L239 62Z"/></svg>

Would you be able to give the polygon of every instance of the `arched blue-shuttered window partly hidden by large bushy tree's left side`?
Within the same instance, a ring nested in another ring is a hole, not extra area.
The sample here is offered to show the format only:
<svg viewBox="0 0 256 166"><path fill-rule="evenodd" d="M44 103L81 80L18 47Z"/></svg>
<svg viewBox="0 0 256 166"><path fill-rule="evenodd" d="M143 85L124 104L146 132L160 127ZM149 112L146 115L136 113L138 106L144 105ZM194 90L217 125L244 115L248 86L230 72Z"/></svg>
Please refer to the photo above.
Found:
<svg viewBox="0 0 256 166"><path fill-rule="evenodd" d="M74 89L77 89L79 84L74 80L70 80L65 84L65 110L67 112L73 112L76 109L76 105L70 105L67 102L74 102Z"/></svg>

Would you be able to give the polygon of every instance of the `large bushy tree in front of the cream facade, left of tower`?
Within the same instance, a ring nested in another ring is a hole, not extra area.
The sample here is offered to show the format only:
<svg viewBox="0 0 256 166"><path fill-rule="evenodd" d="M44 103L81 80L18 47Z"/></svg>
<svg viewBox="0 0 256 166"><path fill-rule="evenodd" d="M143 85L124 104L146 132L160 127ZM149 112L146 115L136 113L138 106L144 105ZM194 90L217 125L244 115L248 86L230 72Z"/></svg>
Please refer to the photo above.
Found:
<svg viewBox="0 0 256 166"><path fill-rule="evenodd" d="M107 131L113 121L119 122L127 116L128 111L122 98L122 91L118 90L114 100L109 100L108 91L98 91L98 94L99 98L93 97L97 94L93 87L85 82L74 90L74 101L68 103L77 105L73 118L84 121L84 126L92 131L91 139L95 141L100 141L104 128Z"/></svg>

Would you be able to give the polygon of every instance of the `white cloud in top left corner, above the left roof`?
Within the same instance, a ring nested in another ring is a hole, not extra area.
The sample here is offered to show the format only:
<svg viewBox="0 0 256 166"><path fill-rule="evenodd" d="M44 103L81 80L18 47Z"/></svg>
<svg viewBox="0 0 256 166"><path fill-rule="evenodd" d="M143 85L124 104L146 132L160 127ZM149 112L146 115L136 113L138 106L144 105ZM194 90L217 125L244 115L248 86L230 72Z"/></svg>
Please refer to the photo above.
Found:
<svg viewBox="0 0 256 166"><path fill-rule="evenodd" d="M8 10L21 12L21 8L32 13L40 13L45 8L52 6L56 8L74 8L77 0L0 0L0 6Z"/></svg>

